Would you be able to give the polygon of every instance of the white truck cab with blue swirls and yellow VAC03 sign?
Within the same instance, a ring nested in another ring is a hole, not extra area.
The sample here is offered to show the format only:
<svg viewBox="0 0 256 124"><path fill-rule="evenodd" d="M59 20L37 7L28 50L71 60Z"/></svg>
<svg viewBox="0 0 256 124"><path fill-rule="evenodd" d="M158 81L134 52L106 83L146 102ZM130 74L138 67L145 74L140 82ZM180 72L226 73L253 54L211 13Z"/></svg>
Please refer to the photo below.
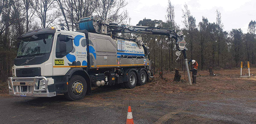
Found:
<svg viewBox="0 0 256 124"><path fill-rule="evenodd" d="M11 95L52 97L66 93L70 78L66 74L70 68L87 67L84 33L43 28L27 32L19 39L13 77L8 79ZM78 45L81 41L82 48ZM83 61L76 61L76 54Z"/></svg>

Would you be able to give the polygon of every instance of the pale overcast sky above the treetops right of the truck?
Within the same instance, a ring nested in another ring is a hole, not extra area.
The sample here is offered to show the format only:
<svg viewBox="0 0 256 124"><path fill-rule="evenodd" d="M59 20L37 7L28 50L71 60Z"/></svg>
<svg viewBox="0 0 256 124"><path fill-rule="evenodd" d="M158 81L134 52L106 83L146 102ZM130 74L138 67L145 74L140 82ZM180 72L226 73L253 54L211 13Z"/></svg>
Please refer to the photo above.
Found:
<svg viewBox="0 0 256 124"><path fill-rule="evenodd" d="M144 18L166 21L168 0L126 0L125 9L131 17L130 25L136 25ZM182 9L188 5L196 24L207 17L210 23L216 22L216 10L221 12L224 31L241 28L247 33L251 20L256 20L256 0L171 0L175 11L175 22L183 28Z"/></svg>

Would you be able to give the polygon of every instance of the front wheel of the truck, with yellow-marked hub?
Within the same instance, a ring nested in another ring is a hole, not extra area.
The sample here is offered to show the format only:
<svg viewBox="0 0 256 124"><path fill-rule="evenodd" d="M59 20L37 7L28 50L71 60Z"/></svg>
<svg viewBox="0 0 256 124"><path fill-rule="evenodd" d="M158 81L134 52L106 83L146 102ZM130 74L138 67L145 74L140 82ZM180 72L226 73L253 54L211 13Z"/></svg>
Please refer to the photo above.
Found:
<svg viewBox="0 0 256 124"><path fill-rule="evenodd" d="M64 93L64 96L71 101L75 101L83 99L86 92L86 80L80 75L75 75L72 76L70 81L68 82L67 93Z"/></svg>

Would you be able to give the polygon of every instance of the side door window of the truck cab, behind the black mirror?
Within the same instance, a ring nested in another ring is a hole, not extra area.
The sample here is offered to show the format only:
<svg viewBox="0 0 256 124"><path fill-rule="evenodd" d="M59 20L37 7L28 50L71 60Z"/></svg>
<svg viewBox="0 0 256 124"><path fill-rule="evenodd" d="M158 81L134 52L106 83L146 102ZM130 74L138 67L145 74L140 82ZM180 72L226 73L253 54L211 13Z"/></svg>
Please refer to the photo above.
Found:
<svg viewBox="0 0 256 124"><path fill-rule="evenodd" d="M70 36L70 37L72 37L72 36ZM57 42L56 42L56 57L57 58L62 58L64 56L66 56L67 54L69 54L73 50L73 42L72 41L73 40L70 39L69 41L64 42L64 41L60 41L59 37L57 38ZM60 52L60 43L61 42L64 42L67 45L66 52L64 52L64 53Z"/></svg>

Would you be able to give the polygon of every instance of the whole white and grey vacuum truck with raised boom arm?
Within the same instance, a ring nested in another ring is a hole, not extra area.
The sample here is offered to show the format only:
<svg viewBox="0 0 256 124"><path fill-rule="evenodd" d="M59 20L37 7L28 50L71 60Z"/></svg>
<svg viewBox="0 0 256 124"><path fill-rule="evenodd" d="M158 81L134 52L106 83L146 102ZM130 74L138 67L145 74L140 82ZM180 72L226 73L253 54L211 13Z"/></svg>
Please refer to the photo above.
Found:
<svg viewBox="0 0 256 124"><path fill-rule="evenodd" d="M186 55L182 31L117 25L99 16L81 18L78 25L79 31L52 27L18 37L13 76L8 78L10 95L53 97L64 93L74 101L92 94L91 87L145 85L153 77L148 47L141 37L125 39L118 37L120 33L166 35Z"/></svg>

